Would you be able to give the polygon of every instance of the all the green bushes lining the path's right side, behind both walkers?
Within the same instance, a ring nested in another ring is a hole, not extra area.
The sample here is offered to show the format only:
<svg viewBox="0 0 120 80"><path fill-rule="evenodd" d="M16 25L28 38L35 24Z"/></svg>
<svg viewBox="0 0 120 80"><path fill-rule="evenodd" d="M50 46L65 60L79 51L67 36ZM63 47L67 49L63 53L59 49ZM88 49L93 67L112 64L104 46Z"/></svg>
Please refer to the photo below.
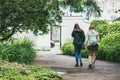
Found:
<svg viewBox="0 0 120 80"><path fill-rule="evenodd" d="M120 22L112 24L107 23L105 20L93 20L90 25L95 26L99 32L100 42L96 58L98 60L105 60L111 62L120 62ZM74 55L74 47L72 39L66 41L61 47L64 55ZM87 49L82 50L82 56L87 58Z"/></svg>

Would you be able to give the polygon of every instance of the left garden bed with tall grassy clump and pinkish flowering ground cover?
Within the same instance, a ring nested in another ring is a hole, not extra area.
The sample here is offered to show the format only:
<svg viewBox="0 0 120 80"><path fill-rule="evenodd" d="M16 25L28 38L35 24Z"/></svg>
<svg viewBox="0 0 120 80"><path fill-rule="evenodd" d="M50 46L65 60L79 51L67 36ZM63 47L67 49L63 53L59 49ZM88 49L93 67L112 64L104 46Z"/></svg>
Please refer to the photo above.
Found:
<svg viewBox="0 0 120 80"><path fill-rule="evenodd" d="M0 43L0 47L0 80L62 80L55 71L29 65L36 50L28 39L12 38Z"/></svg>

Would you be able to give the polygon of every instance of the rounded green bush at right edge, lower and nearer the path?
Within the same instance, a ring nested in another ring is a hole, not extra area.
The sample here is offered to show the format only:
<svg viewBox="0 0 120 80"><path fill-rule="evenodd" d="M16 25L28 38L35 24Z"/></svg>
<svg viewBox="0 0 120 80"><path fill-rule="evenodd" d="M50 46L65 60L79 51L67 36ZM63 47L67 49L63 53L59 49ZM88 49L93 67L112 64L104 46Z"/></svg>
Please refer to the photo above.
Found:
<svg viewBox="0 0 120 80"><path fill-rule="evenodd" d="M120 33L105 36L100 43L97 58L107 61L120 62Z"/></svg>

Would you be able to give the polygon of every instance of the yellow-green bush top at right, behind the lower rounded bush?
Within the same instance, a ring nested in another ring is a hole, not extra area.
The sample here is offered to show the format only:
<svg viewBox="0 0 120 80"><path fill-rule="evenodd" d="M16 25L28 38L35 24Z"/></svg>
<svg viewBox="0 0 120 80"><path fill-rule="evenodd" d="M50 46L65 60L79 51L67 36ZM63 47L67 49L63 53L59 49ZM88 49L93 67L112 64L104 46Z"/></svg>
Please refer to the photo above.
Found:
<svg viewBox="0 0 120 80"><path fill-rule="evenodd" d="M100 39L110 33L120 33L120 22L108 24L104 20L93 20L90 25L93 25L95 29L99 32Z"/></svg>

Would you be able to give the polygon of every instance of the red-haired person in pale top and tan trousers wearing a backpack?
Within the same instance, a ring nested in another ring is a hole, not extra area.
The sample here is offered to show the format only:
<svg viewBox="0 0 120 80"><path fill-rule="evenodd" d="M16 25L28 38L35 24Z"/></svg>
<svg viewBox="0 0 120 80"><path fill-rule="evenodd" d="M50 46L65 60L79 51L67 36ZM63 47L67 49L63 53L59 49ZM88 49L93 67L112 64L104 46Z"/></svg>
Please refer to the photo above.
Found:
<svg viewBox="0 0 120 80"><path fill-rule="evenodd" d="M96 51L98 50L98 41L99 34L95 31L93 26L89 27L87 33L87 49L88 49L88 59L89 59L89 68L93 68L95 65Z"/></svg>

